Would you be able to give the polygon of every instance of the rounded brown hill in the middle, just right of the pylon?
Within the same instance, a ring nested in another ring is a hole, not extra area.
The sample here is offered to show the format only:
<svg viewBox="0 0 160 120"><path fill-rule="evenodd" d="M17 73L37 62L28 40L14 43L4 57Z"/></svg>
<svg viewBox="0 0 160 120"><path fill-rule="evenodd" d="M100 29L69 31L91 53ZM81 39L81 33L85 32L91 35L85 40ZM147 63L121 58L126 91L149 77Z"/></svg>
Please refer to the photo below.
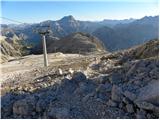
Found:
<svg viewBox="0 0 160 120"><path fill-rule="evenodd" d="M85 33L73 33L48 46L48 52L55 52L55 49L63 53L88 53L105 51L103 43L96 37Z"/></svg>

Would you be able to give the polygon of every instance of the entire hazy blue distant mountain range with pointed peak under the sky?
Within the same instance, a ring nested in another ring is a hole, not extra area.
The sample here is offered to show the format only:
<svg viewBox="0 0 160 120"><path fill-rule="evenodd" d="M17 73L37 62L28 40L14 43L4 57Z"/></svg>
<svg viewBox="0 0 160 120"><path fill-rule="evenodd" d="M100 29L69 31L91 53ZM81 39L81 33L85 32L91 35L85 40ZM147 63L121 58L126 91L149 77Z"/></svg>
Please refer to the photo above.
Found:
<svg viewBox="0 0 160 120"><path fill-rule="evenodd" d="M51 26L51 38L63 38L75 32L89 33L98 37L109 51L115 51L158 38L159 16L145 16L141 19L125 20L105 19L91 22L76 20L72 15L69 15L57 21L47 20L36 24L17 26L3 25L2 31L5 26L5 28L14 31L18 37L23 36L26 43L35 47L40 45L41 37L33 31L44 25ZM5 36L5 32L2 32L2 35Z"/></svg>

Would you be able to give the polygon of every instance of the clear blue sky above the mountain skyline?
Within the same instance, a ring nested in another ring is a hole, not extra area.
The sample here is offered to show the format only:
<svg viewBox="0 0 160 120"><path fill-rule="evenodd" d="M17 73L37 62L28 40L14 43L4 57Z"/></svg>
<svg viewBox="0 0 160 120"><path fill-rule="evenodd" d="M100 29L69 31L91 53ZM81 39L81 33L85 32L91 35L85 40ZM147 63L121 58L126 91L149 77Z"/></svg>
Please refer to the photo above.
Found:
<svg viewBox="0 0 160 120"><path fill-rule="evenodd" d="M158 0L11 1L2 0L2 17L26 23L58 20L73 15L78 20L141 18L158 15ZM3 20L3 22L8 22Z"/></svg>

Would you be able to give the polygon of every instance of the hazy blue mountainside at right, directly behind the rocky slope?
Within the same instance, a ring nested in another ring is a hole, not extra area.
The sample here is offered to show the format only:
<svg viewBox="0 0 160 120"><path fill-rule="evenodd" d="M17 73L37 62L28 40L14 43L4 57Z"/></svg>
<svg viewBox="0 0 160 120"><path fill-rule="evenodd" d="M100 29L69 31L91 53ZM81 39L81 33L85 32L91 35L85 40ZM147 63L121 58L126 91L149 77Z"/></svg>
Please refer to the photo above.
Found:
<svg viewBox="0 0 160 120"><path fill-rule="evenodd" d="M93 35L103 41L109 51L128 49L158 38L159 17L144 17L127 24L117 24L113 28L100 27Z"/></svg>

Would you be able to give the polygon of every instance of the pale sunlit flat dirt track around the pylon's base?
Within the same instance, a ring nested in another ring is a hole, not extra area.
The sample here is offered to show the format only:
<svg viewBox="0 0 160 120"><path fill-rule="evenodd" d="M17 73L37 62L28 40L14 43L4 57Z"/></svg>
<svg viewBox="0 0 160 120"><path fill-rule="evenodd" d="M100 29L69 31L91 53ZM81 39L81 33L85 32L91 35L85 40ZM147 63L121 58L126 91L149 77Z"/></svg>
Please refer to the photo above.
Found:
<svg viewBox="0 0 160 120"><path fill-rule="evenodd" d="M49 67L53 69L55 67L74 69L83 69L89 61L92 61L93 56L84 56L79 54L62 54L52 53L48 54ZM19 74L25 74L26 72L33 71L34 69L46 69L43 67L43 55L29 55L19 59L12 59L9 62L3 63L0 66L1 80L6 81L13 79L14 76Z"/></svg>

